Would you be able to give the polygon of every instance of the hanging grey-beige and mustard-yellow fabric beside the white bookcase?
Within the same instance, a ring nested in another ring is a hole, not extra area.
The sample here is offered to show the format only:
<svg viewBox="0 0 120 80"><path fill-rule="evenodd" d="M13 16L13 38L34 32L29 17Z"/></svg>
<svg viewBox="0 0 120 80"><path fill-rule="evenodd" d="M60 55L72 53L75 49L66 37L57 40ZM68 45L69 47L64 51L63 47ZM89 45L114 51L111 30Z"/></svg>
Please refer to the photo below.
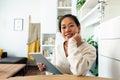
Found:
<svg viewBox="0 0 120 80"><path fill-rule="evenodd" d="M31 52L40 52L40 23L29 23L28 59L33 60Z"/></svg>

